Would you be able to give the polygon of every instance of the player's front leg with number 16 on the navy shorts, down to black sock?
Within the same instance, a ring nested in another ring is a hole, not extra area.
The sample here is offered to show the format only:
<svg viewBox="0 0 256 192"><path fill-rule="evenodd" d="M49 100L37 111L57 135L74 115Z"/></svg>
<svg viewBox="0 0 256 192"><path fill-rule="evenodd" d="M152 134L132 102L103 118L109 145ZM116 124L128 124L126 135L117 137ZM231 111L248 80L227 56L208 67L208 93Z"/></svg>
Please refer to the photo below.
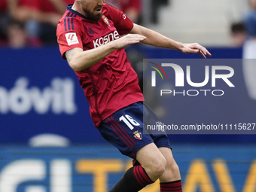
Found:
<svg viewBox="0 0 256 192"><path fill-rule="evenodd" d="M128 169L110 192L137 192L163 174L166 167L163 154L149 134L142 134L142 103L134 103L111 114L102 121L99 132L122 154L142 161L142 165Z"/></svg>

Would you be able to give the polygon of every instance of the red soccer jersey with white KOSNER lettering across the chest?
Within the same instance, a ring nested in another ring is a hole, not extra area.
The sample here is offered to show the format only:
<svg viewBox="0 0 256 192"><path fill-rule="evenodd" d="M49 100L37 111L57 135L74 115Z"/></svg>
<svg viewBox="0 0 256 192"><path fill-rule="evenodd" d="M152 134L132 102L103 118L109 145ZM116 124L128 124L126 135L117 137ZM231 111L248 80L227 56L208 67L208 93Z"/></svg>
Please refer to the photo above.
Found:
<svg viewBox="0 0 256 192"><path fill-rule="evenodd" d="M111 5L103 5L102 18L89 20L68 6L59 20L57 38L62 57L75 47L90 50L120 38L133 29L133 22ZM120 108L143 101L139 80L123 49L114 50L104 59L78 75L90 104L90 115L95 126Z"/></svg>

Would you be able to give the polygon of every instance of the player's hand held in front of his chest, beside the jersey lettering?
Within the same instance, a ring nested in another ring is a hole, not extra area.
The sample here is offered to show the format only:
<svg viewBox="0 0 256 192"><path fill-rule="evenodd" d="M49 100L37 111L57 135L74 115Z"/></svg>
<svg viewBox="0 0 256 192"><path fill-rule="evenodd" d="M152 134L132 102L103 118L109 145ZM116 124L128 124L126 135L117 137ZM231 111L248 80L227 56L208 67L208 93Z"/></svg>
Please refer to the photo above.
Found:
<svg viewBox="0 0 256 192"><path fill-rule="evenodd" d="M146 39L145 36L139 34L128 34L117 40L111 41L114 43L114 47L116 49L122 49L129 44L139 44L140 41L144 41Z"/></svg>

